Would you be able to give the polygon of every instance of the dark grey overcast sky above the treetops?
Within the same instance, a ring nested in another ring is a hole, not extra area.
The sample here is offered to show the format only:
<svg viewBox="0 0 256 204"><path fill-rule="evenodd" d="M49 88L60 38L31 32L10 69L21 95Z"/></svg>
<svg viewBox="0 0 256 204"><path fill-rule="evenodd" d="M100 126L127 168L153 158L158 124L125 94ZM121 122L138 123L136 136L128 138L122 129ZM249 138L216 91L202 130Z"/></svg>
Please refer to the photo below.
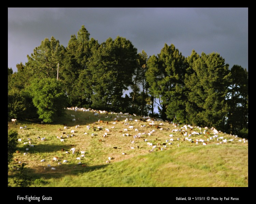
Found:
<svg viewBox="0 0 256 204"><path fill-rule="evenodd" d="M8 8L8 67L27 62L35 47L54 36L67 47L82 25L99 43L119 35L138 53L157 55L173 44L187 57L219 53L231 68L248 71L248 8Z"/></svg>

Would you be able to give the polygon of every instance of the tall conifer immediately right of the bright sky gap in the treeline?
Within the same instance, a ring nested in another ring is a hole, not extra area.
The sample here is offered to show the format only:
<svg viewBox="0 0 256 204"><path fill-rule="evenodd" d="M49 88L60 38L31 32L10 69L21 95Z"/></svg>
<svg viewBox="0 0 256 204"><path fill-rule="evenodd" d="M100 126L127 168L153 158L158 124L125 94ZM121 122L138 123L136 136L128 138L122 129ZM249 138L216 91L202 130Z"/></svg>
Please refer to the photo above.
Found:
<svg viewBox="0 0 256 204"><path fill-rule="evenodd" d="M146 79L151 95L159 99L161 118L185 121L185 57L173 44L165 44L160 54L148 59L147 67Z"/></svg>

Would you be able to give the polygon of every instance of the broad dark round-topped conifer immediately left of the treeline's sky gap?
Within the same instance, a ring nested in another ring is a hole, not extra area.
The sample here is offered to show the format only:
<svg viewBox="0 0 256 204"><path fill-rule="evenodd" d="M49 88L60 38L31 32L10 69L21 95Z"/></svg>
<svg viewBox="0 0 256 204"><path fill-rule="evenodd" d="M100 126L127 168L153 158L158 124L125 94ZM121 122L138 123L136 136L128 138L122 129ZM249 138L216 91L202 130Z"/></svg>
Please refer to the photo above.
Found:
<svg viewBox="0 0 256 204"><path fill-rule="evenodd" d="M107 39L93 51L86 64L92 76L92 108L122 111L123 90L132 84L136 55L131 42L119 36Z"/></svg>

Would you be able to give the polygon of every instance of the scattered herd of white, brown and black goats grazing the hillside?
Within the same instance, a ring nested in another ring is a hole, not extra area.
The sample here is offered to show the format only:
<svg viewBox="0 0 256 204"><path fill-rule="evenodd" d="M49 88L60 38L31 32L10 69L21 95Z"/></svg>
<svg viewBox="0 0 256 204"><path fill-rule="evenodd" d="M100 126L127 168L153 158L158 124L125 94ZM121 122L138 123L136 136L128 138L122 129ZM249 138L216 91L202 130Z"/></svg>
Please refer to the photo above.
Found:
<svg viewBox="0 0 256 204"><path fill-rule="evenodd" d="M69 168L71 166L72 169L76 169L78 166L88 167L88 163L90 164L89 160L95 160L94 157L98 156L93 153L95 146L101 149L101 152L103 152L102 155L105 155L105 159L101 158L96 161L99 164L109 164L114 159L115 161L124 159L126 155L126 157L129 158L129 155L135 156L137 154L165 151L170 148L223 145L227 143L244 143L248 145L247 139L238 138L237 135L222 133L214 127L199 127L189 124L182 126L173 122L145 116L138 117L135 114L130 115L128 113L108 113L105 111L95 111L93 109L77 107L67 109L74 112L89 112L95 122L91 124L87 123L86 125L77 124L80 121L79 118L76 120L75 115L70 114L70 123L72 125L68 126L66 123L63 123L62 127L65 132L61 132L62 128L59 128L57 129L57 136L35 136L35 144L32 144L30 137L19 138L18 147L20 151L17 150L16 154L14 154L14 156L17 157L14 159L14 164L16 164L16 162L18 164L22 164L23 162L29 163L30 155L39 155L39 153L37 153L37 145L39 143L40 145L49 144L47 141L52 142L52 140L59 140L61 144L65 144L66 148L56 150L56 156L54 157L40 157L41 159L38 159L38 162L36 162L37 167L40 167L40 169L44 171L47 169L56 171L60 168L63 171L62 164L68 163L70 164ZM88 116L88 114L86 116ZM89 119L89 117L85 118ZM16 119L12 119L12 122L15 123ZM41 125L44 124L41 122ZM19 135L24 137L30 134L27 125L20 126L19 131ZM24 133L23 131L27 132ZM72 140L71 138L77 138L77 140ZM75 145L73 145L74 142ZM67 150L67 147L70 147L70 149ZM21 151L22 148L24 148L24 152ZM30 148L33 148L33 153L30 153ZM105 152L106 149L109 151ZM21 156L20 153L22 153L23 156ZM86 157L87 160L85 160ZM46 162L47 164L43 165L43 163ZM49 162L51 162L51 164L49 164ZM13 166L13 168L17 167ZM33 168L33 166L31 166L31 168Z"/></svg>

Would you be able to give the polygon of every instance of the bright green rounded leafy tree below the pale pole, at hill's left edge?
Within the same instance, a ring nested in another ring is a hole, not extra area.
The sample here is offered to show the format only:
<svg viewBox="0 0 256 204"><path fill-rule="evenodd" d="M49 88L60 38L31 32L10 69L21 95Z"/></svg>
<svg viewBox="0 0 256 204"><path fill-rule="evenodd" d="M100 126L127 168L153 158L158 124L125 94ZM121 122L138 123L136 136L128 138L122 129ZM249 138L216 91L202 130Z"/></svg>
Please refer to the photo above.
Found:
<svg viewBox="0 0 256 204"><path fill-rule="evenodd" d="M62 91L60 80L45 78L34 79L28 88L33 104L38 109L38 115L44 122L53 122L64 114L67 98Z"/></svg>

